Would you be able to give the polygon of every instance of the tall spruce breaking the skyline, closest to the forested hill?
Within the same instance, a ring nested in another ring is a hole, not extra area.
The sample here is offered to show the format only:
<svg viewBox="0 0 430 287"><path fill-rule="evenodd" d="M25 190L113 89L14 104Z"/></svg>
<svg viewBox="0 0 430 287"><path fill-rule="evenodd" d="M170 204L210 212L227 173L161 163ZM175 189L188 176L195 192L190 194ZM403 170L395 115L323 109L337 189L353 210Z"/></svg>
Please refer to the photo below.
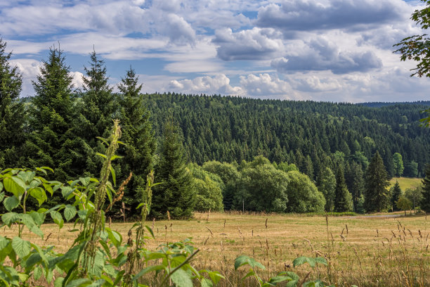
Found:
<svg viewBox="0 0 430 287"><path fill-rule="evenodd" d="M121 92L119 120L122 126L122 138L124 146L119 146L119 154L124 155L120 159L117 177L125 179L133 172L131 181L126 186L124 203L131 205L131 210L136 210L141 192L146 186L146 175L152 169L152 156L155 152L154 132L150 122L150 113L143 104L143 96L140 93L142 84L138 84L138 77L133 69L126 72L126 77L118 84Z"/></svg>

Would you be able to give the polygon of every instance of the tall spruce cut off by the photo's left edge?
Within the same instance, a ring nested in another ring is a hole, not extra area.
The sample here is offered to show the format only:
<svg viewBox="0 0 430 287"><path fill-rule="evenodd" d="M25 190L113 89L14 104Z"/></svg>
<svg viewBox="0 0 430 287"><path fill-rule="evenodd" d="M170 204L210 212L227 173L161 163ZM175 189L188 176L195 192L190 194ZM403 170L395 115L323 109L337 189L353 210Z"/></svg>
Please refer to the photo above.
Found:
<svg viewBox="0 0 430 287"><path fill-rule="evenodd" d="M18 67L9 64L11 56L0 38L0 169L17 166L25 141L25 112L19 100L22 76Z"/></svg>

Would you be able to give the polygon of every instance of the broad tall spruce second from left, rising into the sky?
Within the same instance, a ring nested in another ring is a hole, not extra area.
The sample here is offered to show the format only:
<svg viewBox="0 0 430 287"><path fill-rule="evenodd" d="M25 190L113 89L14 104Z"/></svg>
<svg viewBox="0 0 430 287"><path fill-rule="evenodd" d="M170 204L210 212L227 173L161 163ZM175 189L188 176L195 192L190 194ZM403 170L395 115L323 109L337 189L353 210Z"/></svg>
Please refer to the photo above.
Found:
<svg viewBox="0 0 430 287"><path fill-rule="evenodd" d="M25 149L32 167L53 168L56 179L69 177L71 160L63 145L69 139L74 116L70 67L60 47L51 47L48 60L43 60L40 75L33 81L35 96L30 109L30 141Z"/></svg>

